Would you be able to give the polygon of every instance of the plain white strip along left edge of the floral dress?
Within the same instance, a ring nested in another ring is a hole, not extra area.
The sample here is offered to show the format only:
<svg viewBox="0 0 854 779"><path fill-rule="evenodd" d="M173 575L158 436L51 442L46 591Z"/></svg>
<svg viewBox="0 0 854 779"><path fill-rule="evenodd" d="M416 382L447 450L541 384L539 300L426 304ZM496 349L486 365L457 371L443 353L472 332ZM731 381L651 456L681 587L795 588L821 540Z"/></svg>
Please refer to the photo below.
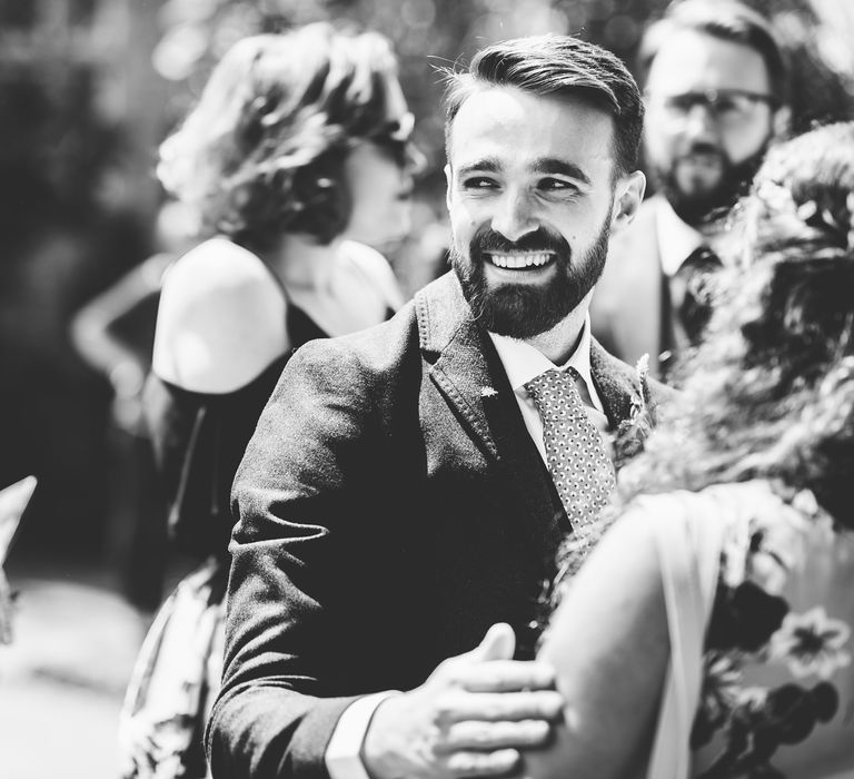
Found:
<svg viewBox="0 0 854 779"><path fill-rule="evenodd" d="M671 638L671 664L647 779L685 779L726 525L708 495L679 491L638 503L656 539Z"/></svg>

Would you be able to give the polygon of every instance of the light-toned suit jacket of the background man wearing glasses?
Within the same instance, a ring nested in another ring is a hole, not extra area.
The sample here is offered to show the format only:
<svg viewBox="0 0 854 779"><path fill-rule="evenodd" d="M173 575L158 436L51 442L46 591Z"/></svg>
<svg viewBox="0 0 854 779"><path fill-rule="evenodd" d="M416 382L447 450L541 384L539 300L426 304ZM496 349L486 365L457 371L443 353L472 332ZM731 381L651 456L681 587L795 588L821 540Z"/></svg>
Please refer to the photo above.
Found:
<svg viewBox="0 0 854 779"><path fill-rule="evenodd" d="M653 375L658 374L663 348L664 272L656 224L662 197L645 200L634 221L614 234L590 303L593 335L633 365L648 354Z"/></svg>

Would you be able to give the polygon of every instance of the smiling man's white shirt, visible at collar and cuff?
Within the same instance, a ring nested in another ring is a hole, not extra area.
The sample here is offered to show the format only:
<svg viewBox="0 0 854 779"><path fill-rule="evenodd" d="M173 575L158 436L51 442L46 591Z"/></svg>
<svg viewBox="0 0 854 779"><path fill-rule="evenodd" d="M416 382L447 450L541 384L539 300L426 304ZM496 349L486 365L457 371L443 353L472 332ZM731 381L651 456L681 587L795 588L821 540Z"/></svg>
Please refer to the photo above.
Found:
<svg viewBox="0 0 854 779"><path fill-rule="evenodd" d="M675 215L674 215L675 216ZM546 447L543 442L543 421L539 417L534 400L525 389L525 385L550 369L566 371L575 368L580 378L576 378L578 393L584 402L587 415L607 441L608 418L599 400L590 376L590 319L585 319L582 337L569 359L564 365L555 365L548 357L524 341L509 338L489 333L489 337L498 352L507 378L510 382L516 402L522 412L522 418L528 434L546 461ZM609 448L607 451L610 451ZM365 734L377 707L389 696L399 694L396 691L378 692L360 698L345 709L332 731L332 737L324 756L326 768L331 779L368 779L368 772L361 762L361 751Z"/></svg>

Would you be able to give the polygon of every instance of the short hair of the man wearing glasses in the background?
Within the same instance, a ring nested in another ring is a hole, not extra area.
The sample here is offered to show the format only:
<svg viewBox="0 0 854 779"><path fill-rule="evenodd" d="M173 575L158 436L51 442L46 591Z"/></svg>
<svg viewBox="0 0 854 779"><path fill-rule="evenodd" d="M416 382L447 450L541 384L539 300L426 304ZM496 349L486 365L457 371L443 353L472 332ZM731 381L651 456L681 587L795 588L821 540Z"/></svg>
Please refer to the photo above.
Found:
<svg viewBox="0 0 854 779"><path fill-rule="evenodd" d="M692 30L753 49L765 62L771 95L783 106L788 102L788 59L771 22L741 2L682 0L673 2L664 17L652 23L640 40L638 68L646 81L662 43L674 32Z"/></svg>

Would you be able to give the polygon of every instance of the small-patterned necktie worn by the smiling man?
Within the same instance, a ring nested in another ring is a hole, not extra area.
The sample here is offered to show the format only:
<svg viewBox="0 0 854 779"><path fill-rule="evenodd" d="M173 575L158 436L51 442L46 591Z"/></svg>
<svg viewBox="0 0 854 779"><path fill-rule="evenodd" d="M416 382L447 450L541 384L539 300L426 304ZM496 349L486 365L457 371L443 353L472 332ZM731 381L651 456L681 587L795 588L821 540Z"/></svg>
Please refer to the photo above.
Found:
<svg viewBox="0 0 854 779"><path fill-rule="evenodd" d="M584 541L616 486L614 464L584 407L574 368L546 371L525 385L543 420L546 462L573 533Z"/></svg>

